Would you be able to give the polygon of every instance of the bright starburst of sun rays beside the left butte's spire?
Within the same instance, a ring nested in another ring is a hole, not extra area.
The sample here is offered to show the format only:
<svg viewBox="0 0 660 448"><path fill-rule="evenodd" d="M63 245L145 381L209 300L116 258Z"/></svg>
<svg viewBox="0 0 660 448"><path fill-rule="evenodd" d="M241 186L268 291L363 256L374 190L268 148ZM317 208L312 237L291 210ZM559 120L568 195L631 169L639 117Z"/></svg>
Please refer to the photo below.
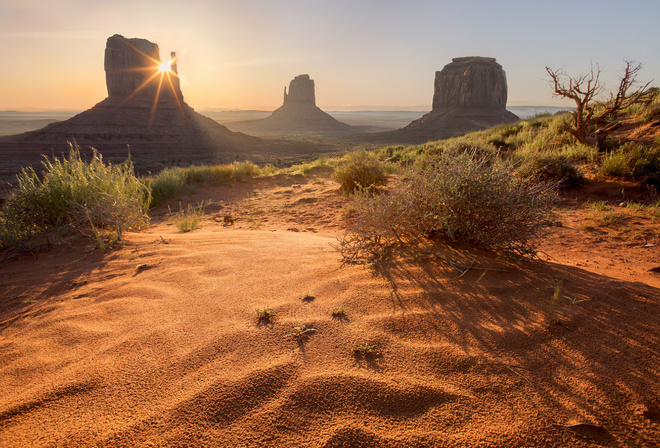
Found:
<svg viewBox="0 0 660 448"><path fill-rule="evenodd" d="M140 54L146 61L148 61L144 67L130 68L130 69L126 69L126 71L147 72L149 73L149 76L137 88L135 88L135 90L133 90L133 92L129 96L127 96L121 102L120 106L123 106L128 101L135 98L135 96L138 95L145 88L151 87L157 83L158 85L156 87L153 104L151 106L151 113L149 114L148 127L149 128L151 127L154 118L156 117L156 111L158 110L158 100L161 96L161 91L163 90L163 88L167 89L168 86L172 94L172 97L176 102L177 108L179 109L179 112L181 113L182 116L185 117L183 106L181 104L181 98L179 97L180 94L180 89L178 86L179 74L177 73L177 69L176 69L176 60L178 59L178 56L176 56L176 53L171 53L172 55L171 60L169 62L164 62L154 59L153 57L141 51L139 48L132 45L127 40L124 40L124 43L127 46L129 46L133 51ZM165 78L167 78L167 82L164 82ZM176 87L175 87L175 82L172 80L172 78L176 79Z"/></svg>

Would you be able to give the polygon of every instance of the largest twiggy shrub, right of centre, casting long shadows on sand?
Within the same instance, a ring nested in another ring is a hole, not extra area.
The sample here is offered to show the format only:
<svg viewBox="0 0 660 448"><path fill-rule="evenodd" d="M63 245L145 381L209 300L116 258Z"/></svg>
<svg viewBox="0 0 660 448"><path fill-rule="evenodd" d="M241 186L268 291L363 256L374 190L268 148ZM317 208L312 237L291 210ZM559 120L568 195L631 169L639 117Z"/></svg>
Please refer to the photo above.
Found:
<svg viewBox="0 0 660 448"><path fill-rule="evenodd" d="M511 163L472 151L443 152L411 167L389 193L354 194L338 249L347 260L371 260L393 244L441 235L512 255L534 253L548 223L556 185L514 174Z"/></svg>

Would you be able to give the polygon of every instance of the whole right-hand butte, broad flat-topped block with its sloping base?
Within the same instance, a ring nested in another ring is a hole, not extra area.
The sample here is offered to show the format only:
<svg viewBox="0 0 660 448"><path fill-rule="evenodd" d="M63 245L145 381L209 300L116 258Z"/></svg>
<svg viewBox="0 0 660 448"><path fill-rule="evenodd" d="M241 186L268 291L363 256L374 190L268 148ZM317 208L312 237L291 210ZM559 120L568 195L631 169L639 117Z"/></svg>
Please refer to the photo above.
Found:
<svg viewBox="0 0 660 448"><path fill-rule="evenodd" d="M454 58L435 73L433 109L404 130L424 138L446 138L461 132L511 123L506 110L506 74L495 58Z"/></svg>

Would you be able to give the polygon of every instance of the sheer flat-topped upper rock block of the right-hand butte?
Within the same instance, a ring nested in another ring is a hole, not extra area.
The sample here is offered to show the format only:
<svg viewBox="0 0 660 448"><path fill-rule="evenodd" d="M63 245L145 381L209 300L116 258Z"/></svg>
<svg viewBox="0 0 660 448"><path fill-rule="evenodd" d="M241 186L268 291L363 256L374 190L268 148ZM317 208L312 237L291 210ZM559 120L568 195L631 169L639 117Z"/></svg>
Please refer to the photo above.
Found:
<svg viewBox="0 0 660 448"><path fill-rule="evenodd" d="M453 58L435 72L433 110L506 108L506 73L495 58Z"/></svg>

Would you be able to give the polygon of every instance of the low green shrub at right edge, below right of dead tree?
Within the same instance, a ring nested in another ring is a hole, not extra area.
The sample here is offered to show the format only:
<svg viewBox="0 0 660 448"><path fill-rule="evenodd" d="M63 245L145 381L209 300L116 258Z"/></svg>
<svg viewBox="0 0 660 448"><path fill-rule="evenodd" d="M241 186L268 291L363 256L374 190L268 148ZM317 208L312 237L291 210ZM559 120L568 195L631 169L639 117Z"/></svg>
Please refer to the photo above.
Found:
<svg viewBox="0 0 660 448"><path fill-rule="evenodd" d="M620 176L657 187L660 184L660 147L627 142L603 159L600 174Z"/></svg>

